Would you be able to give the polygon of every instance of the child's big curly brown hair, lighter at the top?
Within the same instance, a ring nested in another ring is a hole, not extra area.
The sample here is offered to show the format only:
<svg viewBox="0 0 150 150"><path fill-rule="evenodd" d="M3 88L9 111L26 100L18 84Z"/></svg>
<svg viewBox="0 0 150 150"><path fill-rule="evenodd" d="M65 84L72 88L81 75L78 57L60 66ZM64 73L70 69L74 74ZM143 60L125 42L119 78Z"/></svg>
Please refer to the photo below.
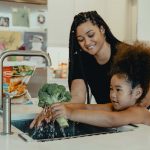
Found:
<svg viewBox="0 0 150 150"><path fill-rule="evenodd" d="M136 42L132 46L120 44L114 57L111 76L125 75L132 88L140 85L143 93L137 102L142 100L150 88L150 47Z"/></svg>

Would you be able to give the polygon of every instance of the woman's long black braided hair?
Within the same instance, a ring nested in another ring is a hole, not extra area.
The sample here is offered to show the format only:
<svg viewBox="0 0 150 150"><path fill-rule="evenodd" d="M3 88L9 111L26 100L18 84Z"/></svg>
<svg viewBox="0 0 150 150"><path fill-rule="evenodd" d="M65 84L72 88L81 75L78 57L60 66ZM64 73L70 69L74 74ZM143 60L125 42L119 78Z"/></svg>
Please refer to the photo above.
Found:
<svg viewBox="0 0 150 150"><path fill-rule="evenodd" d="M116 39L114 37L114 35L111 33L108 25L106 24L106 22L102 19L102 17L96 12L96 11L88 11L88 12L81 12L78 15L76 15L74 17L72 26L71 26L71 30L70 30L70 38L69 38L69 74L68 74L68 83L69 83L69 88L71 89L71 82L72 82L72 71L73 71L73 66L74 66L74 59L73 59L73 55L75 53L78 54L79 56L79 61L80 61L80 67L81 67L81 71L82 71L82 75L84 78L84 82L86 85L86 89L87 89L87 102L89 103L89 88L88 88L88 83L87 83L87 79L85 77L85 73L84 73L84 67L83 67L83 62L82 62L82 56L81 54L81 47L77 41L76 38L76 30L77 27L82 24L85 23L87 21L91 21L93 23L93 25L97 25L99 28L102 26L105 29L105 37L106 37L106 41L112 45L112 44L116 44L119 42L118 39Z"/></svg>

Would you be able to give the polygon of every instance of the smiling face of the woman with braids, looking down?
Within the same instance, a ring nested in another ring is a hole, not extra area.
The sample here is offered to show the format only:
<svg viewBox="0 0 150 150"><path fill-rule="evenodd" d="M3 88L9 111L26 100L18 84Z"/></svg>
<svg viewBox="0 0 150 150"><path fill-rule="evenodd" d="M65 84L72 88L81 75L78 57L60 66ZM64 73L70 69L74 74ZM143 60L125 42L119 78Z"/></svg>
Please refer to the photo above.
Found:
<svg viewBox="0 0 150 150"><path fill-rule="evenodd" d="M90 21L77 27L77 40L80 47L91 55L97 54L105 42L104 29L93 25Z"/></svg>

